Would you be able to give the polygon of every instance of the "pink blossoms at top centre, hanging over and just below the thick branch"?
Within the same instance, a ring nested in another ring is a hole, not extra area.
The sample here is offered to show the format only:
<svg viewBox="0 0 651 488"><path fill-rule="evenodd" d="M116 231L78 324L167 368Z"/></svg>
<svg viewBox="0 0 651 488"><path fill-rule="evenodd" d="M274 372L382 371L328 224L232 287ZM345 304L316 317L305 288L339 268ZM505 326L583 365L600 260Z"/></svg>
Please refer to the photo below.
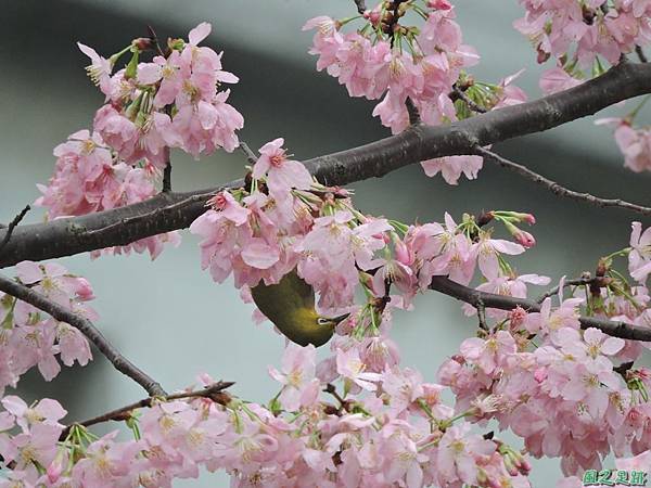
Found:
<svg viewBox="0 0 651 488"><path fill-rule="evenodd" d="M406 16L422 20L420 26L404 25ZM498 85L475 84L465 68L478 62L474 48L463 44L455 10L447 0L426 2L382 1L361 16L362 27L344 33L344 26L360 17L335 21L315 17L304 29L317 29L309 51L319 56L317 69L345 85L350 97L384 99L374 116L398 133L409 126L408 100L424 124L437 126L471 116L471 108L458 92L485 110L526 100L513 77ZM463 174L476 178L480 156L450 156L423 162L427 176L442 174L457 184Z"/></svg>

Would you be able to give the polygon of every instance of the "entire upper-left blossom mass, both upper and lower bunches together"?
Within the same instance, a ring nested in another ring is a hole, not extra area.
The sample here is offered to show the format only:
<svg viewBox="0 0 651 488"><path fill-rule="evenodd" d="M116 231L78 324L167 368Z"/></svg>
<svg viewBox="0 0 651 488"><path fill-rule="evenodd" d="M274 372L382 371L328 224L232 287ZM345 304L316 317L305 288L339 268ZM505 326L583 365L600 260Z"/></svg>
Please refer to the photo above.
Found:
<svg viewBox="0 0 651 488"><path fill-rule="evenodd" d="M243 117L227 103L229 90L220 90L221 84L234 84L238 78L221 69L221 54L199 46L209 33L209 24L200 24L190 31L189 41L170 39L165 51L152 39L136 39L107 60L79 44L91 59L88 74L106 103L94 116L92 132L75 132L54 149L54 175L47 185L39 185L42 196L36 202L48 209L49 218L151 198L170 147L199 157L219 147L231 152L239 145L235 131L243 127ZM139 62L150 50L159 55L151 63ZM126 67L112 73L129 52ZM149 251L155 258L166 243L179 242L178 232L168 232L104 252Z"/></svg>

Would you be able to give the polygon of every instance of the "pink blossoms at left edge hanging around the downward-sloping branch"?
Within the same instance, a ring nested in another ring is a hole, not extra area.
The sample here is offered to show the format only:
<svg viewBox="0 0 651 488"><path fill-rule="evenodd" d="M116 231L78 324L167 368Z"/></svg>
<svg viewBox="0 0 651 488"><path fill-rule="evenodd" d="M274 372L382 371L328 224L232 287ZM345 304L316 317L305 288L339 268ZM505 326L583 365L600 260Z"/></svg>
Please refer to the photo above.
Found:
<svg viewBox="0 0 651 488"><path fill-rule="evenodd" d="M92 320L95 311L87 305L94 298L84 278L61 265L22 261L15 267L17 280L50 300ZM88 341L77 329L46 316L25 301L0 292L0 394L15 387L21 375L34 367L46 381L61 371L61 362L86 365L91 359Z"/></svg>

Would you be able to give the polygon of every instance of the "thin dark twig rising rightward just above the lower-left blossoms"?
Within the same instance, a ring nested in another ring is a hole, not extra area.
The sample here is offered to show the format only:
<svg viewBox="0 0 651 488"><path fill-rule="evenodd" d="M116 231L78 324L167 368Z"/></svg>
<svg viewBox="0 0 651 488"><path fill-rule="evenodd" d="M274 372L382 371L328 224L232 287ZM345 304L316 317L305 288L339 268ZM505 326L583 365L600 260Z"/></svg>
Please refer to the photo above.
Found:
<svg viewBox="0 0 651 488"><path fill-rule="evenodd" d="M224 390L230 388L234 385L234 382L217 382L213 383L209 386L206 386L203 389L196 389L192 391L182 391L178 394L165 395L165 396L152 396L143 398L142 400L135 401L133 403L129 403L119 409L111 410L110 412L103 413L98 416L93 416L92 419L88 419L81 422L74 422L68 425L65 431L61 434L61 439L65 439L69 429L73 425L82 425L84 427L90 427L91 425L100 424L102 422L115 421L122 422L126 421L131 416L131 412L137 409L151 408L155 401L171 401L171 400L181 400L184 398L209 398L217 403L226 403L229 400L229 397L224 394Z"/></svg>

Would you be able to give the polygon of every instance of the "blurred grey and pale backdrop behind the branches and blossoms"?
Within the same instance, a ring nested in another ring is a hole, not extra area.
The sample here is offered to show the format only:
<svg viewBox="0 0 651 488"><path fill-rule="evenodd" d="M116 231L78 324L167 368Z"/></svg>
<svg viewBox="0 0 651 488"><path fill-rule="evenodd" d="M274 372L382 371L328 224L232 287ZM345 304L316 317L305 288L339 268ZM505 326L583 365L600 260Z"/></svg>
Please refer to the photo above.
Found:
<svg viewBox="0 0 651 488"><path fill-rule="evenodd" d="M522 14L516 2L458 0L456 4L464 42L482 55L472 72L476 79L495 82L525 67L516 85L531 99L538 98L541 69L526 40L511 27ZM203 21L213 24L205 43L224 50L225 69L240 77L230 103L245 117L241 139L254 149L284 137L290 152L306 159L388 134L371 116L373 103L348 98L335 79L316 72L315 59L307 54L312 33L301 30L316 15L354 15L353 0L0 0L0 5L2 222L34 202L39 194L36 183L52 174L52 149L69 133L89 128L103 101L86 77L88 60L76 42L107 57L132 38L146 36L148 24L162 39L187 37ZM622 112L615 108L599 115ZM495 150L571 189L651 204L650 175L625 170L610 129L595 127L592 119ZM219 152L201 162L177 152L173 159L174 187L181 191L240 177L245 164L238 152ZM407 222L441 221L445 210L456 217L482 209L531 211L538 220L529 229L538 244L514 262L521 273L547 274L554 282L562 274L576 277L591 270L600 256L626 246L630 221L639 220L623 210L559 200L490 163L478 180L462 179L458 187L439 177L426 178L418 165L350 187L362 211ZM42 214L35 209L25 221L39 221ZM276 394L277 385L266 371L267 365L280 363L283 339L268 323L253 323L252 307L241 301L232 284L217 285L201 271L196 241L188 232L179 248L167 248L154 264L148 256L102 257L91 262L86 255L61 262L93 285L103 333L166 389L186 387L207 372L237 382L232 391L242 398L265 402ZM533 290L533 296L540 292ZM442 360L474 328L475 320L464 318L458 303L429 293L417 299L414 311L395 316L393 336L400 345L403 364L434 381ZM28 400L59 399L69 412L66 422L143 396L102 356L94 357L89 367L64 369L51 383L27 374L20 393ZM556 460L535 465L534 486L556 484L560 476ZM205 474L178 486L228 486L228 480Z"/></svg>

